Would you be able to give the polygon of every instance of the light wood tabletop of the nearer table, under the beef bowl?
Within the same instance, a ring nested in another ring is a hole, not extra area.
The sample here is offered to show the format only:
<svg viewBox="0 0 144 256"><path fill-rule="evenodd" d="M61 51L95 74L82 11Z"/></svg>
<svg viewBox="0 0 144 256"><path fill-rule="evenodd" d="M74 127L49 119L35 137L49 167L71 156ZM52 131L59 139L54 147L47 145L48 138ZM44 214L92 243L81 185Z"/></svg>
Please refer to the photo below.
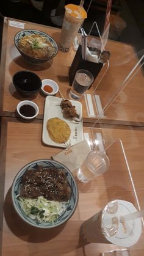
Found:
<svg viewBox="0 0 144 256"><path fill-rule="evenodd" d="M25 164L60 152L62 148L48 147L41 143L42 120L31 123L20 122L14 117L2 117L1 126L1 205L4 199L4 212L1 211L1 247L2 256L98 256L100 252L117 249L108 244L87 244L79 241L79 228L83 221L101 210L113 199L129 200L137 206L134 189L132 188L123 150L119 142L107 150L110 159L110 169L96 180L82 184L77 181L79 203L71 219L62 226L51 230L35 229L25 224L13 209L11 186L13 178ZM103 127L93 129L85 127L84 134L93 139L96 132L104 136L106 145L115 139L123 139L123 145L130 164L135 188L138 191L140 205L143 207L143 143L142 130L135 128L132 133L120 127ZM136 153L135 153L136 150ZM136 163L139 162L139 167ZM143 235L134 249L140 249L143 255ZM136 252L137 252L136 250ZM134 251L132 251L134 252ZM137 255L137 254L134 254Z"/></svg>

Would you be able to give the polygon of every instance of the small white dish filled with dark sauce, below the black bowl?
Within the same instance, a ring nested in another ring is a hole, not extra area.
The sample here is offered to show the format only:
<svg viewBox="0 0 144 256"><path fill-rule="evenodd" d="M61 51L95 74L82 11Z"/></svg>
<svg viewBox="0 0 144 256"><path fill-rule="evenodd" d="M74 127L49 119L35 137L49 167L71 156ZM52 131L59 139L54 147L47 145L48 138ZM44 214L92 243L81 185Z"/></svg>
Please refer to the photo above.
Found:
<svg viewBox="0 0 144 256"><path fill-rule="evenodd" d="M20 101L16 106L16 110L20 117L26 120L34 119L39 113L37 104L31 100Z"/></svg>

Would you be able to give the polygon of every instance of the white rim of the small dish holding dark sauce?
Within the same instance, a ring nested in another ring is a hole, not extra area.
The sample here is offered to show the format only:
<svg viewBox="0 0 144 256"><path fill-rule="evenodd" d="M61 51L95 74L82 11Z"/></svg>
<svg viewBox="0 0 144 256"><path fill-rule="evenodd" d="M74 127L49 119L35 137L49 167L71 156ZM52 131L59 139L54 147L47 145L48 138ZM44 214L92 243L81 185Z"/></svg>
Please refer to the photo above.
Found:
<svg viewBox="0 0 144 256"><path fill-rule="evenodd" d="M20 112L20 105L23 106L26 103L27 103L27 105L34 106L34 108L35 108L35 115L32 115L32 117L26 117L26 115L22 115L21 112ZM31 103L31 104L29 104L29 103ZM34 119L35 117L37 117L37 115L39 113L38 105L32 100L22 100L22 101L20 101L16 106L16 110L17 110L18 114L20 115L20 117L22 117L23 119L26 119L26 120Z"/></svg>

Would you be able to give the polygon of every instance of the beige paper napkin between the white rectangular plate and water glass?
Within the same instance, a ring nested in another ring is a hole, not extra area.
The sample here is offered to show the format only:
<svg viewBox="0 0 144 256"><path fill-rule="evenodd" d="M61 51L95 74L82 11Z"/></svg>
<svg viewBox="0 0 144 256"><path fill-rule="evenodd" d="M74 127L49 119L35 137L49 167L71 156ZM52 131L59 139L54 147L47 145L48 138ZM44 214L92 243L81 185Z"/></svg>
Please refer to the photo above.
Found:
<svg viewBox="0 0 144 256"><path fill-rule="evenodd" d="M64 164L71 172L74 172L81 166L90 151L91 148L87 141L82 141L65 148L57 155L52 156L52 159Z"/></svg>

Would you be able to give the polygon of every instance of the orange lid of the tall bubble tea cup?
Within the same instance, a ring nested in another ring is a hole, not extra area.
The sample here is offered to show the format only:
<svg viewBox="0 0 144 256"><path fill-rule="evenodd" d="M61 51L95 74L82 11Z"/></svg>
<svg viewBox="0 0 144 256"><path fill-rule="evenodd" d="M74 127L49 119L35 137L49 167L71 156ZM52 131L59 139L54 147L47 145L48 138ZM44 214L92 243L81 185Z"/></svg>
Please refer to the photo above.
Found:
<svg viewBox="0 0 144 256"><path fill-rule="evenodd" d="M70 13L74 18L85 19L87 18L87 12L83 7L79 8L79 5L76 4L67 4L65 9Z"/></svg>

